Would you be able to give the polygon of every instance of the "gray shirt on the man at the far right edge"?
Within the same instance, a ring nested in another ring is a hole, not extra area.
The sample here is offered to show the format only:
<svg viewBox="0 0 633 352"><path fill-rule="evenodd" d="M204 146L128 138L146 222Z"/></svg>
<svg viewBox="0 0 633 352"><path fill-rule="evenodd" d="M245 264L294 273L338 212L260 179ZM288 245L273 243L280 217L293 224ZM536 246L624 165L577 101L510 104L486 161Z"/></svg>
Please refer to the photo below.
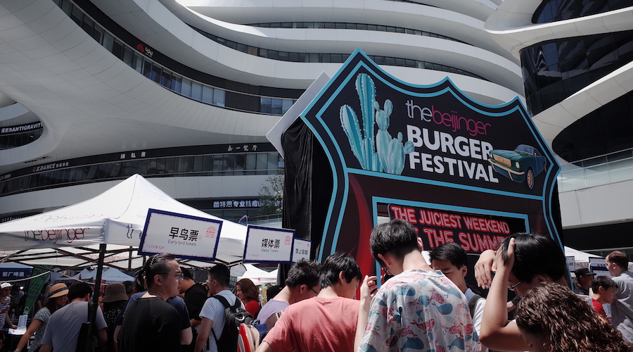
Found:
<svg viewBox="0 0 633 352"><path fill-rule="evenodd" d="M613 281L618 284L618 291L611 304L611 320L627 344L633 345L633 272L622 272Z"/></svg>

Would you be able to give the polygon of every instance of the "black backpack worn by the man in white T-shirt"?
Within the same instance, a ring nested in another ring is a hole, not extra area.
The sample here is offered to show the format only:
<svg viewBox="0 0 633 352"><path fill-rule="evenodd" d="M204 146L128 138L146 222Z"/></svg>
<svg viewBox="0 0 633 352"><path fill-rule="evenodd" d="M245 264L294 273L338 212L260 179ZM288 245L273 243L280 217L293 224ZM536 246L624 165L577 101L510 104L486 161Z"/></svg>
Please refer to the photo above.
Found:
<svg viewBox="0 0 633 352"><path fill-rule="evenodd" d="M219 339L215 336L213 329L211 329L215 344L217 344L217 351L237 351L240 325L250 324L253 320L252 315L241 307L239 298L236 298L235 304L231 306L224 296L215 295L211 297L216 298L224 306L224 329L222 329Z"/></svg>

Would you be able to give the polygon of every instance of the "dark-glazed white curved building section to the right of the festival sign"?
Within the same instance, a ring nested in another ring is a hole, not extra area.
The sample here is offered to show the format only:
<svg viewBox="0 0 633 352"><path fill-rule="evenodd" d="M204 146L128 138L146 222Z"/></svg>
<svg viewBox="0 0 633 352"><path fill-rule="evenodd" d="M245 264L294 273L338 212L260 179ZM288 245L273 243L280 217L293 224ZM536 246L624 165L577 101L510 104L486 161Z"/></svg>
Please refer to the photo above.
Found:
<svg viewBox="0 0 633 352"><path fill-rule="evenodd" d="M633 254L633 1L506 0L485 27L561 163L565 244Z"/></svg>

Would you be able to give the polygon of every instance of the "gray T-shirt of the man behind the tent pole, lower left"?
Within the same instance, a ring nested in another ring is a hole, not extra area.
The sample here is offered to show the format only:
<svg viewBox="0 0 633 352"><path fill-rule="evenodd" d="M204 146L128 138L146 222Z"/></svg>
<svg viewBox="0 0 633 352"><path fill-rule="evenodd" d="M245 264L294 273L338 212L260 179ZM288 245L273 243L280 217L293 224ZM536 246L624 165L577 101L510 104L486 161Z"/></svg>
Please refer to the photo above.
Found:
<svg viewBox="0 0 633 352"><path fill-rule="evenodd" d="M75 352L79 329L84 322L88 322L88 302L69 303L51 315L41 344L53 345L55 352ZM95 331L106 329L107 326L101 308L97 307Z"/></svg>

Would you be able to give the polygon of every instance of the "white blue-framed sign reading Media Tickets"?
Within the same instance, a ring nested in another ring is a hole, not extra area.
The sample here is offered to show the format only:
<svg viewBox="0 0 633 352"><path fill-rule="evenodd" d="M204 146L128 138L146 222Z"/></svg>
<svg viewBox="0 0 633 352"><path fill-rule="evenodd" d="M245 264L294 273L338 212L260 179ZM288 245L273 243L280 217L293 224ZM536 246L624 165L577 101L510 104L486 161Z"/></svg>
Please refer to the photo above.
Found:
<svg viewBox="0 0 633 352"><path fill-rule="evenodd" d="M244 263L291 263L295 230L248 225Z"/></svg>

